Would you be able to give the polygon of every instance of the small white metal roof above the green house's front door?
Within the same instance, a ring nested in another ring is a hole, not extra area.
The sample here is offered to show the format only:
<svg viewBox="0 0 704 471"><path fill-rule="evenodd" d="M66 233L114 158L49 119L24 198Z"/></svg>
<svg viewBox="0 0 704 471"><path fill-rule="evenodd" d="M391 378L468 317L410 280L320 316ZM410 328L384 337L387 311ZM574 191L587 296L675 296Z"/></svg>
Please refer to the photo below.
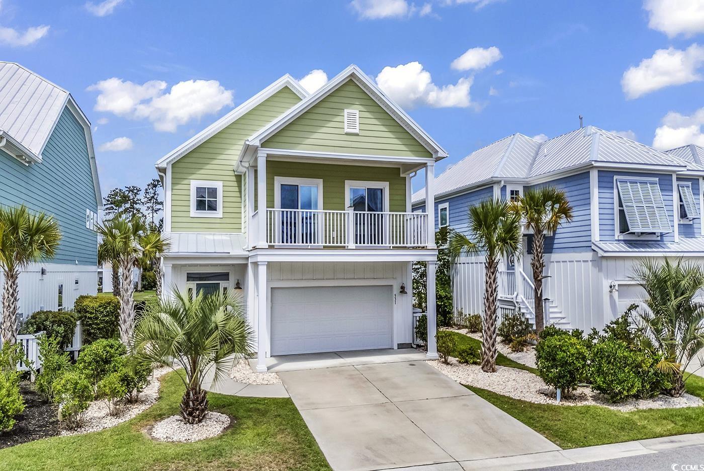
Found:
<svg viewBox="0 0 704 471"><path fill-rule="evenodd" d="M165 233L171 244L170 256L178 255L241 255L245 254L246 240L241 233Z"/></svg>

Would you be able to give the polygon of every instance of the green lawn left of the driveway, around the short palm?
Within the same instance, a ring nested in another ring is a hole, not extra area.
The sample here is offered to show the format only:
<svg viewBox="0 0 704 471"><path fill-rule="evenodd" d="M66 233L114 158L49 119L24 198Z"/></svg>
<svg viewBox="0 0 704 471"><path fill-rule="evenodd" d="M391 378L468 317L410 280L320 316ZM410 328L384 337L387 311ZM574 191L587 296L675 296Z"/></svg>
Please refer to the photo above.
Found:
<svg viewBox="0 0 704 471"><path fill-rule="evenodd" d="M194 444L153 441L143 430L175 415L183 383L170 373L161 399L116 427L0 450L2 470L329 470L291 399L210 394L210 410L236 419L220 437Z"/></svg>

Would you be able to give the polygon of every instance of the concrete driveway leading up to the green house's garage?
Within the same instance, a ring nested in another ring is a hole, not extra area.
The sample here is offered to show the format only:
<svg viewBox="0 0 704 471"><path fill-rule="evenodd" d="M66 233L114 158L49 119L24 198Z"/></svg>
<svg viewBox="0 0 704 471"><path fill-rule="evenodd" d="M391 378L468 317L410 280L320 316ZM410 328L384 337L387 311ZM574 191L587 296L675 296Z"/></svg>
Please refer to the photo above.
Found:
<svg viewBox="0 0 704 471"><path fill-rule="evenodd" d="M425 361L279 377L336 471L475 469L472 460L560 449Z"/></svg>

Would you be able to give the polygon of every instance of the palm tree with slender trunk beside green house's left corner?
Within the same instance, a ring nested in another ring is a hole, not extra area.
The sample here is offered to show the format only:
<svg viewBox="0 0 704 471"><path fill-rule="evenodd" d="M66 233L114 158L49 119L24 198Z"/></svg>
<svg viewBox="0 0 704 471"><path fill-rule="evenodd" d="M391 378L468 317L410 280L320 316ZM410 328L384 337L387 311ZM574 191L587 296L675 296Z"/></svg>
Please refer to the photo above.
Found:
<svg viewBox="0 0 704 471"><path fill-rule="evenodd" d="M120 340L125 345L132 343L134 333L134 284L132 269L137 266L144 252L151 253L154 245L163 242L148 238L143 216L113 217L98 227L101 236L99 251L117 257L120 267Z"/></svg>

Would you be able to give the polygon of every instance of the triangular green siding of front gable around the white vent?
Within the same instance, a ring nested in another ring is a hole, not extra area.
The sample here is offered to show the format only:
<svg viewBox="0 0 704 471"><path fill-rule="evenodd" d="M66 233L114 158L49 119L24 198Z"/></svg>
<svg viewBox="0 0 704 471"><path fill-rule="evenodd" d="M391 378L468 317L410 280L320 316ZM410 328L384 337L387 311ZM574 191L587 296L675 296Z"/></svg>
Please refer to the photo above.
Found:
<svg viewBox="0 0 704 471"><path fill-rule="evenodd" d="M359 134L345 134L345 109L359 110ZM263 148L432 157L401 124L351 79L262 143Z"/></svg>

